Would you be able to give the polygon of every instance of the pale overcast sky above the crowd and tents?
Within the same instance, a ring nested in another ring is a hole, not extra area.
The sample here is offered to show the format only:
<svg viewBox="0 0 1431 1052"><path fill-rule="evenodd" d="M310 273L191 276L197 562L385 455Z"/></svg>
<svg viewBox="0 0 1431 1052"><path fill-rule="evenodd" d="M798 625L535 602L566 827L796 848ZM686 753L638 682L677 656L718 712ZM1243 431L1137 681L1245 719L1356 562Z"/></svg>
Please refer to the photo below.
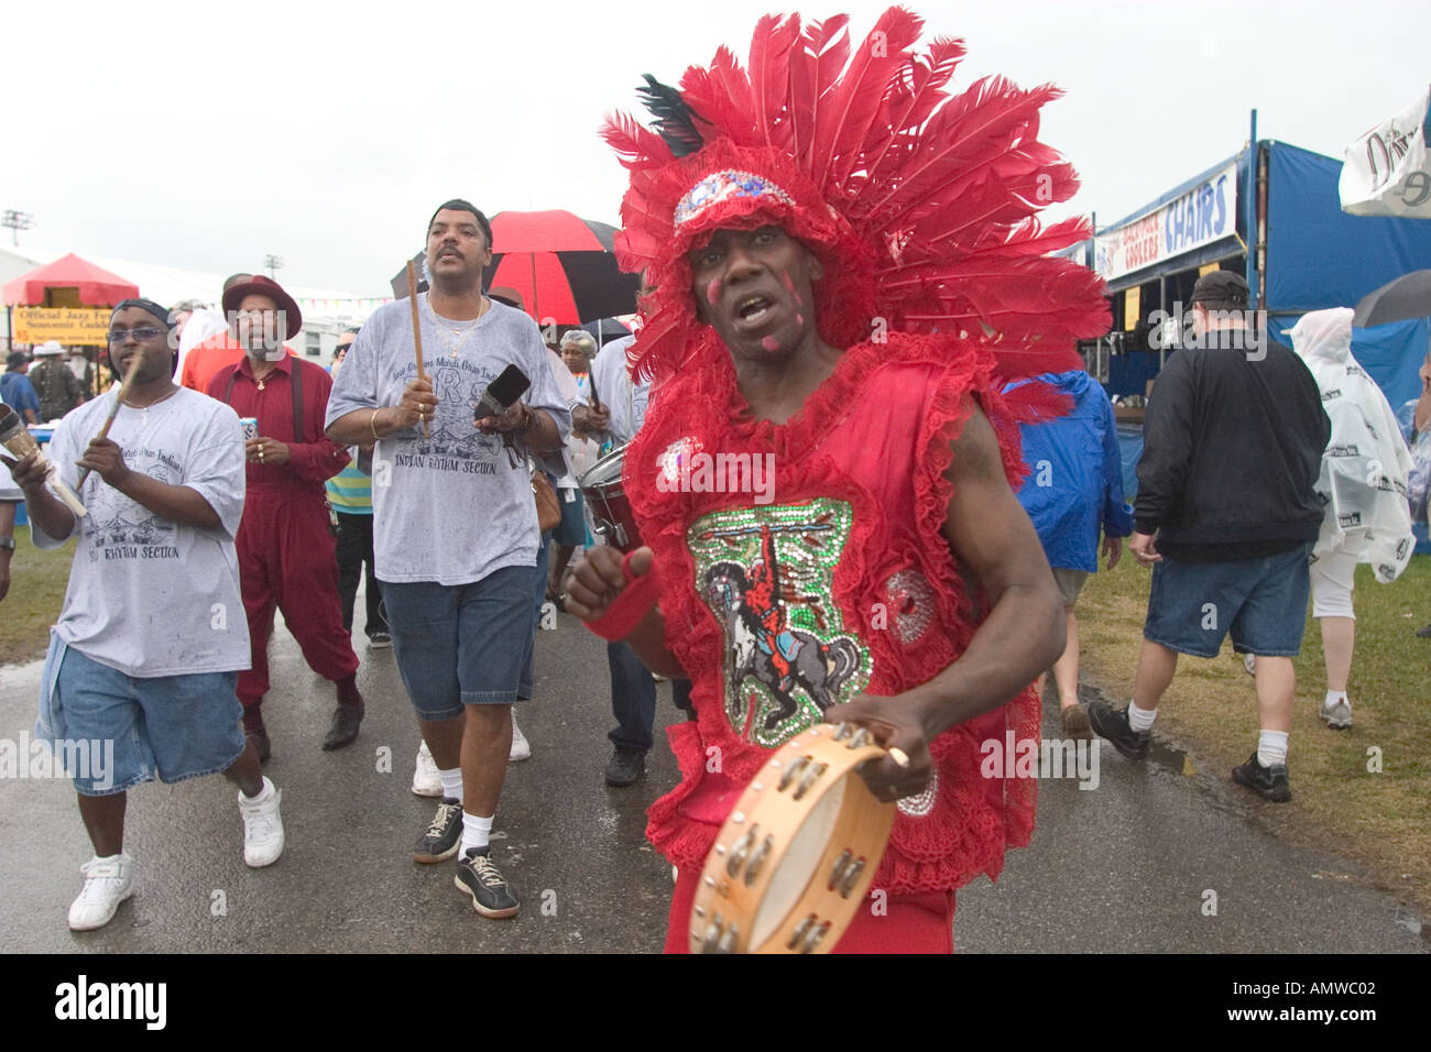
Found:
<svg viewBox="0 0 1431 1052"><path fill-rule="evenodd" d="M798 9L851 16L884 3ZM1342 156L1431 82L1425 0L909 4L969 44L954 77L1053 82L1042 139L1112 222L1259 137ZM597 137L641 73L675 83L771 3L10 4L0 209L21 246L384 295L446 198L618 222ZM794 10L786 6L784 10ZM680 13L675 13L680 11ZM9 232L3 232L9 233ZM6 236L9 242L9 236Z"/></svg>

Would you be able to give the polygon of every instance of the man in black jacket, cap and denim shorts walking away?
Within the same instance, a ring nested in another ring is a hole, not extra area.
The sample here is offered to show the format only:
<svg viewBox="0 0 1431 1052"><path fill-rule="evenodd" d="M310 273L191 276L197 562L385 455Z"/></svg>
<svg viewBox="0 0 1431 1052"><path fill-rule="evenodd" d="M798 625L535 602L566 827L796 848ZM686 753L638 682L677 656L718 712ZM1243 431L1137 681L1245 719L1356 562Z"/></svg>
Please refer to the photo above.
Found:
<svg viewBox="0 0 1431 1052"><path fill-rule="evenodd" d="M1123 756L1148 753L1178 654L1216 657L1232 633L1258 656L1258 749L1232 779L1292 797L1286 736L1322 521L1312 487L1331 422L1311 372L1248 311L1248 285L1213 271L1193 286L1193 345L1173 355L1148 405L1129 551L1153 568L1133 700L1089 721ZM1156 544L1155 544L1156 535Z"/></svg>

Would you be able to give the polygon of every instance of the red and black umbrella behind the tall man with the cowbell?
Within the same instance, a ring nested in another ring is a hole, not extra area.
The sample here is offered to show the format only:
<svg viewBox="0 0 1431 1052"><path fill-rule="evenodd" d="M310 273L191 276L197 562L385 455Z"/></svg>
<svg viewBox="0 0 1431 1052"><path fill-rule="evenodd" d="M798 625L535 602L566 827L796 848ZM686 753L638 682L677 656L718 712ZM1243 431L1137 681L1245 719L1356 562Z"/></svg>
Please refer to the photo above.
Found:
<svg viewBox="0 0 1431 1052"><path fill-rule="evenodd" d="M577 325L631 313L641 279L617 268L615 232L614 226L560 209L498 212L492 216L497 250L482 272L482 286L515 289L538 322ZM408 295L405 272L392 279L392 288L396 296Z"/></svg>

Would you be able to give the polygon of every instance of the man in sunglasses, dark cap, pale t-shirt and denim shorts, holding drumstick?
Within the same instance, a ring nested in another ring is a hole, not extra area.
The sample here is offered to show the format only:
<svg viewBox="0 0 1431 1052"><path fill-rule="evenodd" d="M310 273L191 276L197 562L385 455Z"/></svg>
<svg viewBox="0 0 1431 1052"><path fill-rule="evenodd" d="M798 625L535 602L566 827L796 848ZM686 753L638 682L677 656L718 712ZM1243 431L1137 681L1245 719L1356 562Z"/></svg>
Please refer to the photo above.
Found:
<svg viewBox="0 0 1431 1052"><path fill-rule="evenodd" d="M146 299L114 308L110 368L139 368L129 396L107 438L96 435L117 391L70 412L50 439L49 461L79 492L83 518L46 488L50 464L39 454L9 462L34 545L79 538L36 721L74 780L94 844L70 906L74 930L109 923L130 896L127 790L156 774L173 783L223 771L240 789L243 860L269 866L283 852L279 792L245 743L235 693L249 666L233 548L243 437L232 409L173 382L167 318Z"/></svg>

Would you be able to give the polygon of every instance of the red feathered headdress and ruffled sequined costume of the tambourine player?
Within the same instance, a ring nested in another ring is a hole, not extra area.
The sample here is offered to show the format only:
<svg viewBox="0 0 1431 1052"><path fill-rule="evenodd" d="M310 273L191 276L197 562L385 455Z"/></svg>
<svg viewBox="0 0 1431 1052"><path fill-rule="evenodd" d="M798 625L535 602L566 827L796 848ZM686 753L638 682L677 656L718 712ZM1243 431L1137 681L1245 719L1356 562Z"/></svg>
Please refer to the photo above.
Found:
<svg viewBox="0 0 1431 1052"><path fill-rule="evenodd" d="M630 364L663 385L625 492L698 714L670 731L683 780L647 830L683 869L673 930L690 873L771 749L831 704L910 690L963 654L985 597L942 535L950 444L977 404L1017 487L1017 422L1059 404L1025 385L1013 405L1000 384L1076 368L1073 339L1108 328L1100 282L1047 255L1086 225L1033 218L1078 186L1037 142L1056 92L990 77L950 97L960 42L916 53L920 21L902 9L859 49L844 24L767 16L748 74L721 49L678 94L650 82L660 135L627 117L605 129L631 172L617 253L657 289ZM687 258L716 229L768 223L820 259L814 319L847 348L784 425L748 415L730 352L697 319ZM757 461L774 471L768 500L723 485ZM934 777L900 802L874 887L946 893L1000 872L1033 829L1035 783L982 777L979 746L1033 737L1037 721L1026 690L930 743Z"/></svg>

